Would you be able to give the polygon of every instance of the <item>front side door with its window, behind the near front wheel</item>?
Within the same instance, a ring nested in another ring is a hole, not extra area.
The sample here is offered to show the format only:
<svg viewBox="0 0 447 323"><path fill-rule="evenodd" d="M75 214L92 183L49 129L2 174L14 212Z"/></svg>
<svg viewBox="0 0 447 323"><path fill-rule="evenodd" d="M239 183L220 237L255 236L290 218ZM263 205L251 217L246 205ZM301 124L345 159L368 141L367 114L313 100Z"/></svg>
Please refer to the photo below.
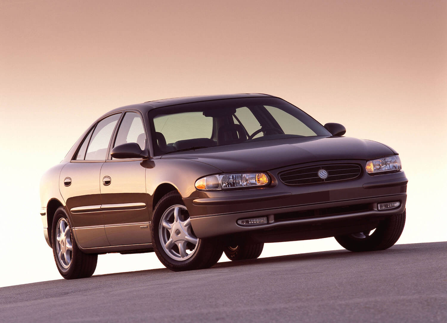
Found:
<svg viewBox="0 0 447 323"><path fill-rule="evenodd" d="M111 148L138 143L145 148L143 118L128 111L122 118ZM143 159L113 159L101 168L101 209L105 232L112 246L151 243Z"/></svg>

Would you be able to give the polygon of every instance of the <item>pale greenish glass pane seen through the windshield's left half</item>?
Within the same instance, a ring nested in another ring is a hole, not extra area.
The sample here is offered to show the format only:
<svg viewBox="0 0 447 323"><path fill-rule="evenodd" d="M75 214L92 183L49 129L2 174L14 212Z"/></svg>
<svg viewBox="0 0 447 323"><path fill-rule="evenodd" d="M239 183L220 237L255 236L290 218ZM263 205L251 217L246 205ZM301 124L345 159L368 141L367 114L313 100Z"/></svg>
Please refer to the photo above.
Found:
<svg viewBox="0 0 447 323"><path fill-rule="evenodd" d="M213 118L200 112L183 112L158 115L154 118L156 132L163 134L166 143L194 138L211 138Z"/></svg>

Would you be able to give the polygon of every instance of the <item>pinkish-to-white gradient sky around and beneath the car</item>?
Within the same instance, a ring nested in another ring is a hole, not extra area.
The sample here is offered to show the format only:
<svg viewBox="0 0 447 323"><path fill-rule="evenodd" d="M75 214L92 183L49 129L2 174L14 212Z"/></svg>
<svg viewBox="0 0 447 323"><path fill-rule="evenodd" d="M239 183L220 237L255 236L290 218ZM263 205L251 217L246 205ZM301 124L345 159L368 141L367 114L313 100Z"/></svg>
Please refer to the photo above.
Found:
<svg viewBox="0 0 447 323"><path fill-rule="evenodd" d="M0 71L0 286L61 278L42 173L103 113L175 96L270 93L388 144L409 178L398 243L447 240L447 1L2 0ZM96 274L160 267L111 254Z"/></svg>

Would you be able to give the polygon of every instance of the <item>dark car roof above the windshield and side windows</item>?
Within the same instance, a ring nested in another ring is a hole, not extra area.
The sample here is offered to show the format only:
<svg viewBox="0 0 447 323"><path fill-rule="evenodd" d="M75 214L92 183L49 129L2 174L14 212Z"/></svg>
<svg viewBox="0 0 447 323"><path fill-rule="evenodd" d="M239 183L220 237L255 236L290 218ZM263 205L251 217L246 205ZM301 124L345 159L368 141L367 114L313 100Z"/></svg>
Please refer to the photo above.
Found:
<svg viewBox="0 0 447 323"><path fill-rule="evenodd" d="M182 96L182 97L174 97L170 99L161 99L154 101L147 101L140 104L135 105L126 105L117 109L113 109L104 115L110 114L116 111L122 111L126 109L136 109L141 112L147 112L149 110L160 108L164 106L170 105L179 105L185 103L194 103L194 102L202 102L202 101L215 101L215 100L225 100L225 99L236 99L236 98L245 98L245 97L263 97L269 96L269 94L263 93L237 93L237 94L219 94L219 95L200 95L200 96Z"/></svg>

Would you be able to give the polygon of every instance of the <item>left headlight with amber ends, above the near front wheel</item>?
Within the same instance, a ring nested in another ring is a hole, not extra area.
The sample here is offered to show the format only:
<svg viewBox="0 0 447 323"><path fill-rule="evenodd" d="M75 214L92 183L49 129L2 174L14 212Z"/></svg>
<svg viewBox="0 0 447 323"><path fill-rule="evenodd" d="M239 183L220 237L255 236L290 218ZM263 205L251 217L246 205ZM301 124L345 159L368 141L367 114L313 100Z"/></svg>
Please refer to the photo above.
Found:
<svg viewBox="0 0 447 323"><path fill-rule="evenodd" d="M235 173L210 175L199 178L195 182L196 189L202 191L216 189L236 189L241 187L265 186L270 183L266 173Z"/></svg>

